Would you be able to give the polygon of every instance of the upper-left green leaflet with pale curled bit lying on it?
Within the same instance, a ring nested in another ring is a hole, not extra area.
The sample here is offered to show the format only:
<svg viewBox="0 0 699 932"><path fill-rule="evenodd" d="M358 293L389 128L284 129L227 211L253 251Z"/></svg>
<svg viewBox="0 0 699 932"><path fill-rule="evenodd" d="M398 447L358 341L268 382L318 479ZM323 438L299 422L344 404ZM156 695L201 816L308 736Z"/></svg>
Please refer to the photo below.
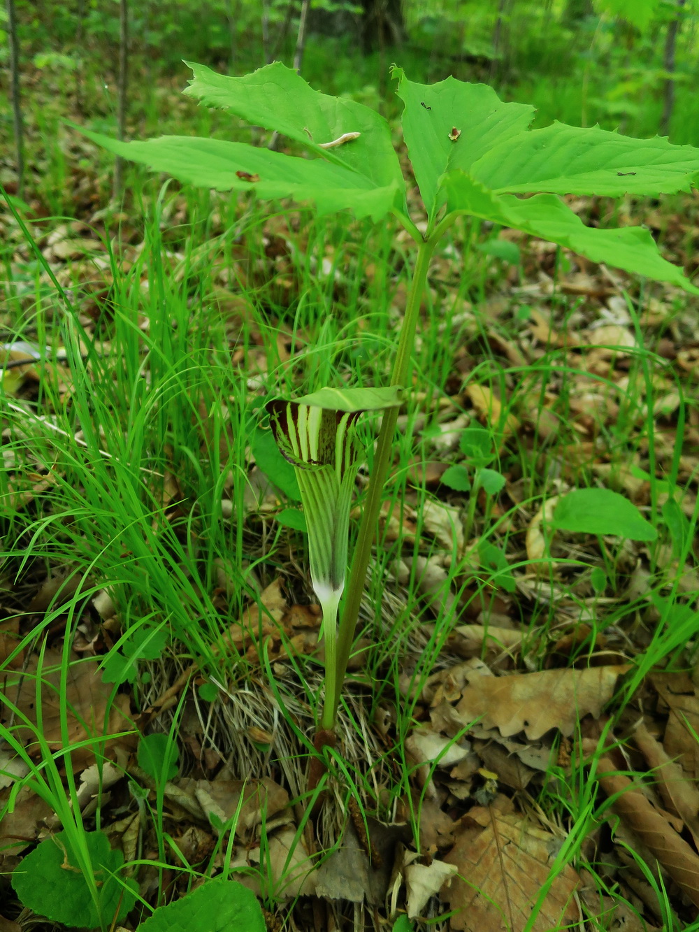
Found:
<svg viewBox="0 0 699 932"><path fill-rule="evenodd" d="M345 97L313 90L293 68L273 62L252 75L228 77L205 65L185 62L194 77L185 94L208 106L224 107L237 117L277 130L348 168L363 179L354 187L395 187L395 206L404 209L405 182L391 144L391 130L376 110ZM348 132L361 135L349 143L323 149Z"/></svg>

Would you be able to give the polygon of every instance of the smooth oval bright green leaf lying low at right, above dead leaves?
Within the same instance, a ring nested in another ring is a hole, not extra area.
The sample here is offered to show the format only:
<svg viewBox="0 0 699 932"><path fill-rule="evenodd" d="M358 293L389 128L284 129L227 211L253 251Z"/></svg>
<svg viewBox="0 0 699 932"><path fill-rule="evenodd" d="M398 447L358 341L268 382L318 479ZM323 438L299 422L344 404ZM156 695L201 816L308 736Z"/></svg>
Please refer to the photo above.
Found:
<svg viewBox="0 0 699 932"><path fill-rule="evenodd" d="M657 531L633 502L610 488L577 488L555 506L553 528L580 534L616 534L630 541L654 541Z"/></svg>

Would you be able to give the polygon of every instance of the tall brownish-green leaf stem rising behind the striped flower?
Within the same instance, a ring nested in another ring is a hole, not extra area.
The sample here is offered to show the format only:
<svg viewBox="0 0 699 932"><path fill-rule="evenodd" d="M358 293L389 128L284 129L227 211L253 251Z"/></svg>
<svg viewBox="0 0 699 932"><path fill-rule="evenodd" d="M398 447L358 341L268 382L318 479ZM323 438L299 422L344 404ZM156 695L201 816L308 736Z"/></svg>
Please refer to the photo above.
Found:
<svg viewBox="0 0 699 932"><path fill-rule="evenodd" d="M441 225L440 225L441 226ZM436 234L435 230L435 234ZM418 327L418 315L422 294L425 290L427 281L427 272L430 267L432 252L440 236L432 234L429 240L423 241L419 245L418 258L413 271L413 281L410 284L407 303L405 305L405 316L401 335L398 339L398 350L396 352L395 363L393 363L393 374L391 376L391 385L406 386L410 373L410 359L415 342L415 332ZM440 231L441 235L441 231ZM374 457L374 468L371 473L369 490L362 514L362 523L359 527L359 536L357 545L352 558L352 566L349 571L349 582L347 584L347 597L342 609L342 616L337 632L337 661L335 681L332 682L332 674L327 678L325 684L325 702L322 708L321 728L324 731L332 732L335 728L337 706L340 701L340 692L347 671L349 661L349 652L352 649L354 640L354 629L357 626L359 617L359 607L362 600L364 580L366 578L366 568L369 566L371 557L371 546L374 541L374 533L377 527L378 512L381 507L381 495L386 483L386 476L391 464L391 451L393 448L393 437L395 426L398 421L398 408L388 408L381 419L381 430L378 432L377 452Z"/></svg>

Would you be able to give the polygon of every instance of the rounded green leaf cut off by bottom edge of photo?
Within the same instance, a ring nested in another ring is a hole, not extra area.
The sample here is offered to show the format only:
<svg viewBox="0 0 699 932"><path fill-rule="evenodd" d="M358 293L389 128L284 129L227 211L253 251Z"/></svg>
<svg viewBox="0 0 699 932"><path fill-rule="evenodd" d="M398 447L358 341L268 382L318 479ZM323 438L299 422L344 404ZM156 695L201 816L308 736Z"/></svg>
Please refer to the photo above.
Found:
<svg viewBox="0 0 699 932"><path fill-rule="evenodd" d="M265 932L265 918L254 893L224 878L199 886L186 897L161 906L137 932Z"/></svg>

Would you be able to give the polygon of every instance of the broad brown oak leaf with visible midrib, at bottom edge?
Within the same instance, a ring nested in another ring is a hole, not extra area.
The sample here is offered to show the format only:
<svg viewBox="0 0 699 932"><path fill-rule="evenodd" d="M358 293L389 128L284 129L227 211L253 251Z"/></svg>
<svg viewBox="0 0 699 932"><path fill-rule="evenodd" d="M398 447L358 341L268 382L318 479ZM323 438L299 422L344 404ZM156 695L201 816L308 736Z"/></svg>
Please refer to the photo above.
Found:
<svg viewBox="0 0 699 932"><path fill-rule="evenodd" d="M557 848L554 835L523 816L503 815L495 804L473 808L461 820L457 843L445 857L446 864L459 869L442 887L442 898L455 911L451 928L551 932L578 925L574 894L580 878L567 865L551 880Z"/></svg>

